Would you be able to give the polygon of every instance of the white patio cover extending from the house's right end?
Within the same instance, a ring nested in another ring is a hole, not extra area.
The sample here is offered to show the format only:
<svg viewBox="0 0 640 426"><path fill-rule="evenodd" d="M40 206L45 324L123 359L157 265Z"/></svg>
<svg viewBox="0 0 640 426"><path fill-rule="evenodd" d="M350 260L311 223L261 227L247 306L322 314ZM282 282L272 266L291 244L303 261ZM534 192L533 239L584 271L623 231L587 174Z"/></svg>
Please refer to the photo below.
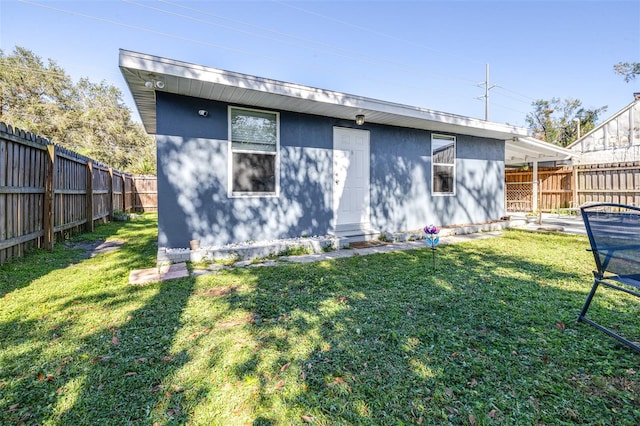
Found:
<svg viewBox="0 0 640 426"><path fill-rule="evenodd" d="M543 161L566 161L576 153L532 137L515 137L506 141L505 163L526 164Z"/></svg>

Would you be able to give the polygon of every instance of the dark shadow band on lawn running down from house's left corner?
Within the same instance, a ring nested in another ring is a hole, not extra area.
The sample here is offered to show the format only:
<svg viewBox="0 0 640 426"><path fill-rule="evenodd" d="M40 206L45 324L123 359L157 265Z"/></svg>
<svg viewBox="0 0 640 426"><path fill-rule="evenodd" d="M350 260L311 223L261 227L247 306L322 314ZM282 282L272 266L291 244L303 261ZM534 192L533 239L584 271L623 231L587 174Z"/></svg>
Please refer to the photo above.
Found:
<svg viewBox="0 0 640 426"><path fill-rule="evenodd" d="M151 411L186 421L181 389L169 387L166 380L189 359L171 348L193 283L187 278L155 284L155 295L122 326L87 338L102 344L91 343L91 369L73 406L60 416L61 424L87 423L87 415L91 424L143 424Z"/></svg>

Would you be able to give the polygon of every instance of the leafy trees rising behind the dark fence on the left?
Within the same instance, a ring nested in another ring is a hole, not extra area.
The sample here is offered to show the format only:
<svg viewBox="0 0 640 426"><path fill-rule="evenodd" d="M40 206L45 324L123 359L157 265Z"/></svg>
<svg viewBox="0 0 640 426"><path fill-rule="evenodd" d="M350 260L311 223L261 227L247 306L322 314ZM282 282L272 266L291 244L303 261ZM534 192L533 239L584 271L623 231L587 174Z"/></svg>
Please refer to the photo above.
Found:
<svg viewBox="0 0 640 426"><path fill-rule="evenodd" d="M155 173L155 143L120 90L87 78L76 84L53 60L0 50L0 121L131 173Z"/></svg>

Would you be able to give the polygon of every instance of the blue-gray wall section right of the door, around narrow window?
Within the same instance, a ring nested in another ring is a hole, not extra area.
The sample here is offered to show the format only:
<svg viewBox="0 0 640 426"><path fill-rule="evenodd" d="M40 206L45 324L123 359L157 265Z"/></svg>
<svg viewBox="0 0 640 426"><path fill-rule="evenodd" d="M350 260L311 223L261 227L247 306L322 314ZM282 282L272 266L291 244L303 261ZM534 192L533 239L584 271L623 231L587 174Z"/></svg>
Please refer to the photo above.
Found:
<svg viewBox="0 0 640 426"><path fill-rule="evenodd" d="M372 225L413 230L494 220L504 214L504 142L456 136L456 194L431 195L431 133L371 129Z"/></svg>

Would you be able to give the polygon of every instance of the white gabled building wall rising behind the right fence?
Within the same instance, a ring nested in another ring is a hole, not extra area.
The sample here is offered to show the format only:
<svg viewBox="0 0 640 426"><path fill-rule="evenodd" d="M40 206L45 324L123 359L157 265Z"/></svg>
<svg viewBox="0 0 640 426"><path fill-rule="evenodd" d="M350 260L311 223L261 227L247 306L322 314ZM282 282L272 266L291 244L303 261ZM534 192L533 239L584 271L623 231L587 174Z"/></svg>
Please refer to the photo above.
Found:
<svg viewBox="0 0 640 426"><path fill-rule="evenodd" d="M576 164L640 161L640 101L635 101L568 147Z"/></svg>

